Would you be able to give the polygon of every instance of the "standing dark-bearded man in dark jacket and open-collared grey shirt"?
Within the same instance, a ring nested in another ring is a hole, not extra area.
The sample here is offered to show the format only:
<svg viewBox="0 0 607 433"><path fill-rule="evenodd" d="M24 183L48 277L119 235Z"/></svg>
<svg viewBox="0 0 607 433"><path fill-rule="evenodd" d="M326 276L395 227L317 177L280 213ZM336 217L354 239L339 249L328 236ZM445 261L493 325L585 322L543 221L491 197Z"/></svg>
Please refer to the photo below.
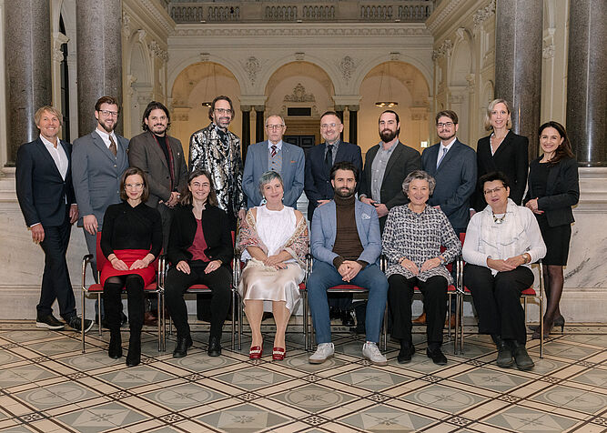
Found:
<svg viewBox="0 0 607 433"><path fill-rule="evenodd" d="M367 152L360 179L359 199L375 206L383 232L389 209L409 200L402 192L402 181L421 168L420 153L399 141L400 119L392 110L379 116L381 142Z"/></svg>

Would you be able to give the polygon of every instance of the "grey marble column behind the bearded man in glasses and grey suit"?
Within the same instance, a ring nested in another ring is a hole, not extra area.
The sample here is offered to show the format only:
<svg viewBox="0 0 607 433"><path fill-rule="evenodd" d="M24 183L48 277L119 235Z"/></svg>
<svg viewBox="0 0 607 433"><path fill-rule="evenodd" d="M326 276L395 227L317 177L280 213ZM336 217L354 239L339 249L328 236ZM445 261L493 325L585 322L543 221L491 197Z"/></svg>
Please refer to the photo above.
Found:
<svg viewBox="0 0 607 433"><path fill-rule="evenodd" d="M83 136L96 126L97 99L114 96L122 105L122 1L78 0L76 16L78 135ZM121 116L116 131L122 131Z"/></svg>

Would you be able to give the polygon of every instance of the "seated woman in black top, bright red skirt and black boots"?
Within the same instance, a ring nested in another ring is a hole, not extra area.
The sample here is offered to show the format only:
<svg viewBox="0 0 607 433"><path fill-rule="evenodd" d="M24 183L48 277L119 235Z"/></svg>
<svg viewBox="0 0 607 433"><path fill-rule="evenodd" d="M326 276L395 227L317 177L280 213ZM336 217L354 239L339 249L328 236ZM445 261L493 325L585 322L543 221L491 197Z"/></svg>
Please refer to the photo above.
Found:
<svg viewBox="0 0 607 433"><path fill-rule="evenodd" d="M107 263L101 270L104 310L110 340L107 354L122 357L120 322L122 287L128 299L128 354L126 366L141 362L141 327L145 311L144 287L154 281L156 269L150 266L162 249L160 214L145 204L147 179L141 169L130 167L120 179L122 203L107 207L101 232L101 250Z"/></svg>

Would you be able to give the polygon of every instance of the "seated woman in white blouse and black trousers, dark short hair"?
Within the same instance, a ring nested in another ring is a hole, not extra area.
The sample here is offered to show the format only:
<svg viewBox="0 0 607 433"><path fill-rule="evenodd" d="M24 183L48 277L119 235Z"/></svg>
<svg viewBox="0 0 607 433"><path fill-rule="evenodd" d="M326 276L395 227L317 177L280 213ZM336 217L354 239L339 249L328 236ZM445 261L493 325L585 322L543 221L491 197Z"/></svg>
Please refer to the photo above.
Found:
<svg viewBox="0 0 607 433"><path fill-rule="evenodd" d="M521 292L533 284L531 263L546 255L540 227L530 209L508 196L501 172L481 176L488 203L470 219L463 247L464 285L470 289L479 315L479 333L490 334L498 347L497 365L529 370L527 332Z"/></svg>

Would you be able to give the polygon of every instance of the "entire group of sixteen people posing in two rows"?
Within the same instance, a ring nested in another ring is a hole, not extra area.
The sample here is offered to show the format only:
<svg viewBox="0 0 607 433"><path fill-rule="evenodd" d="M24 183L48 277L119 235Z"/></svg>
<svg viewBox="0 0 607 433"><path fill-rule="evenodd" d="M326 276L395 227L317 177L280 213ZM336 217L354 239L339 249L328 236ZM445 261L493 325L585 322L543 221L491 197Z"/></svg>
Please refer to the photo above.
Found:
<svg viewBox="0 0 607 433"><path fill-rule="evenodd" d="M549 297L544 330L564 326L562 267L579 186L571 144L556 122L541 126L543 155L528 168L528 140L510 131L511 109L504 100L488 107L486 126L492 132L479 141L477 152L457 139L458 117L446 110L436 116L440 143L420 156L400 143L400 118L386 110L379 116L380 142L369 149L363 167L360 147L341 139L338 113L320 117L324 142L307 156L283 142L284 118L268 116L268 140L248 146L243 164L238 136L228 130L232 102L218 96L209 107L209 126L190 138L187 165L181 143L167 135L166 106L151 102L143 116L144 133L130 142L114 132L118 114L116 99L100 98L96 130L78 138L72 150L58 139L61 114L44 106L35 116L40 137L19 148L17 196L32 238L46 254L36 326L64 326L52 314L57 299L69 326L92 327L76 317L66 268L70 227L78 217L89 253L95 257L99 243L106 257L100 282L110 330L108 355L114 358L122 356L120 295L126 288L128 366L140 362L144 288L154 278L161 251L170 264L165 296L177 328L173 356L186 356L192 346L183 294L193 284L212 290L207 353L221 354L238 222L238 247L247 263L238 291L252 330L251 359L262 357L265 302L277 324L272 358L286 356L285 332L298 305L309 250L314 263L307 289L318 343L310 363L322 363L334 351L328 288L353 284L369 292L363 357L387 364L378 342L389 300L392 337L400 340L398 361L410 361L415 351L411 297L419 287L428 324L427 356L446 364L440 345L454 274L448 264L461 252L479 330L495 341L498 365L533 367L519 296L532 284L531 263L542 257ZM297 210L302 191L309 199L310 237L306 217ZM381 253L385 273L379 267ZM533 329L534 337L539 329Z"/></svg>

